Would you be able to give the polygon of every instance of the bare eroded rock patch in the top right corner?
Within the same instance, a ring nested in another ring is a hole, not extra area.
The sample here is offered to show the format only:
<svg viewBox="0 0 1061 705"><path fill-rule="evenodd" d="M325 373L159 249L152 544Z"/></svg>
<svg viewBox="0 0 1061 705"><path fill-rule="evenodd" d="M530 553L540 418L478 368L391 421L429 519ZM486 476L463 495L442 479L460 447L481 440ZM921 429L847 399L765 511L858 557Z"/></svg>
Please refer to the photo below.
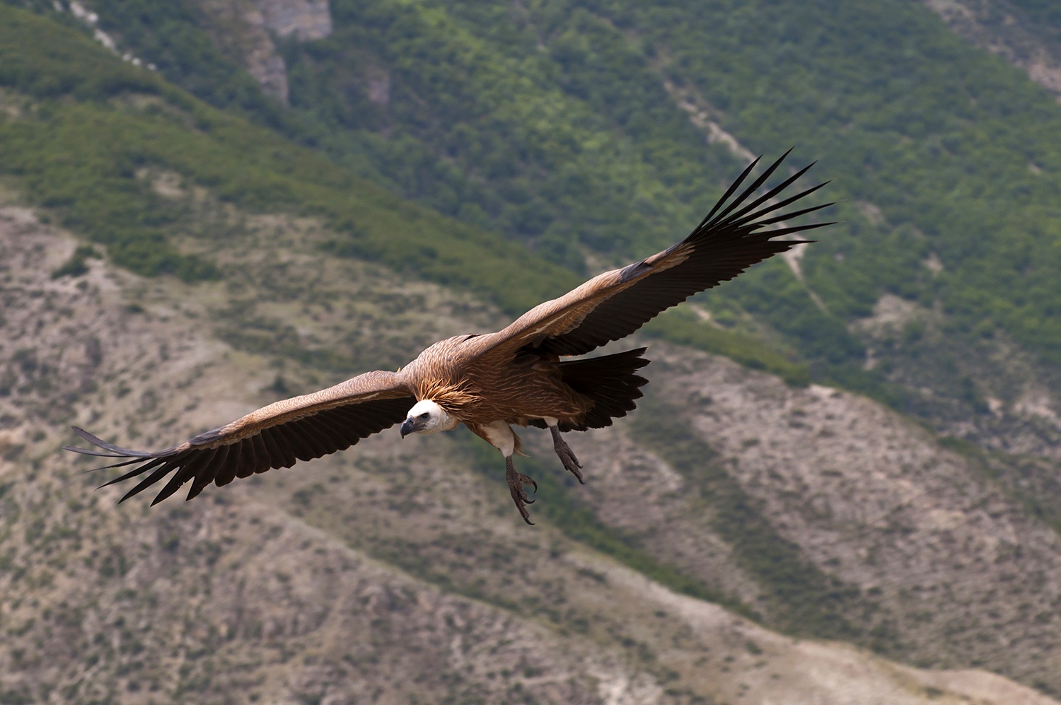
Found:
<svg viewBox="0 0 1061 705"><path fill-rule="evenodd" d="M923 0L959 36L1028 72L1061 100L1061 47L1006 0Z"/></svg>

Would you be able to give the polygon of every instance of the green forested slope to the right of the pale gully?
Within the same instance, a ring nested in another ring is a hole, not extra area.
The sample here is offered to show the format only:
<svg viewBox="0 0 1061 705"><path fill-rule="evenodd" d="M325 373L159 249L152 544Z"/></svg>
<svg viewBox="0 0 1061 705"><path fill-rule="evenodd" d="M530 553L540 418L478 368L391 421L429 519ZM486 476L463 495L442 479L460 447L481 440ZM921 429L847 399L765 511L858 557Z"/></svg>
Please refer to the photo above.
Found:
<svg viewBox="0 0 1061 705"><path fill-rule="evenodd" d="M821 155L837 190L881 209L879 226L854 221L807 252L832 311L865 315L885 292L938 299L957 330L1001 328L1061 359L1061 110L1017 69L916 3L609 5L668 47L675 80L727 128L754 148ZM936 276L921 265L932 253Z"/></svg>

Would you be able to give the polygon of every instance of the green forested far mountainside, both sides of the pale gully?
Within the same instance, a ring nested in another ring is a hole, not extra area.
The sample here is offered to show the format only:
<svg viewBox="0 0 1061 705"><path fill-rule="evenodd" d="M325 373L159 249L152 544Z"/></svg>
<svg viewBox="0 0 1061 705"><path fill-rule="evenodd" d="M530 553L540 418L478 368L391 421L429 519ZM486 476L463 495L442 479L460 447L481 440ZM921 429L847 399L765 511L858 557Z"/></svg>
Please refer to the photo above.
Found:
<svg viewBox="0 0 1061 705"><path fill-rule="evenodd" d="M712 299L789 336L824 364L818 376L860 365L846 323L885 293L939 300L953 334L1002 329L1047 358L1061 350L1061 111L916 3L340 0L333 11L332 37L286 49L294 108L334 128L333 149L367 151L443 212L561 262L554 235L624 255L673 240L735 162L705 145L669 82L753 151L795 143L821 158L830 197L848 197L847 224L804 260L828 314L779 296L800 288L780 266ZM370 100L372 81L389 91ZM936 275L922 264L933 254Z"/></svg>

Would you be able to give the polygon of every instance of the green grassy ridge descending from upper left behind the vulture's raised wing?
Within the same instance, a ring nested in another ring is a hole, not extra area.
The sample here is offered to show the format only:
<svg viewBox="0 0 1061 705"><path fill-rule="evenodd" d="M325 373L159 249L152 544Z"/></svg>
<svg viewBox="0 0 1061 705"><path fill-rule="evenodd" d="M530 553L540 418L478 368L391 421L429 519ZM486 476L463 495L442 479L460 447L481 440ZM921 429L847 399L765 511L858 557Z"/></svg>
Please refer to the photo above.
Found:
<svg viewBox="0 0 1061 705"><path fill-rule="evenodd" d="M137 178L140 168L162 166L250 210L323 216L340 233L331 243L334 253L473 290L509 313L580 281L518 243L440 217L266 128L212 109L75 32L3 5L0 20L0 86L38 101L28 114L0 122L0 171L20 176L38 204L107 245L115 261L134 271L189 280L215 274L211 263L167 242L184 213ZM657 330L800 376L746 337Z"/></svg>

